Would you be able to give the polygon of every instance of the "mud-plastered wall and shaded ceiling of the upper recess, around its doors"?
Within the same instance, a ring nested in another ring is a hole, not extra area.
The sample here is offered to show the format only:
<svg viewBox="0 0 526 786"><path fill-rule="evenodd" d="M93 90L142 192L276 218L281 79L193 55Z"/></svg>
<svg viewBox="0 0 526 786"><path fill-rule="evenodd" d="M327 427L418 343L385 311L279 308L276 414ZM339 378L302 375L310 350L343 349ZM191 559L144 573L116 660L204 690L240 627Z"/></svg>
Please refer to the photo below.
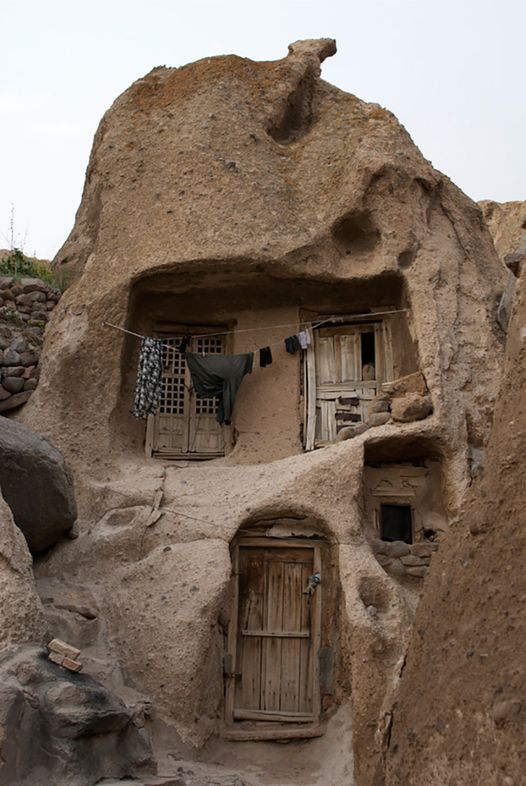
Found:
<svg viewBox="0 0 526 786"><path fill-rule="evenodd" d="M303 358L302 353L288 354L283 342L298 331L300 319L407 308L407 313L379 319L391 320L395 376L417 368L409 304L399 276L345 285L278 281L262 274L248 277L244 286L242 275L238 286L228 276L208 274L206 278L200 286L197 281L192 285L190 273L182 285L181 274L174 272L171 280L161 275L139 282L130 298L128 324L131 330L145 335L162 335L165 331L169 335L175 326L191 332L192 325L210 326L211 331L233 331L226 337L226 351L255 353L253 372L243 380L236 398L235 449L230 454L233 460L271 461L301 452ZM182 286L188 291L177 292ZM267 345L271 345L273 363L261 369L258 350ZM116 433L122 435L120 448L140 453L144 422L130 416L138 351L138 340L127 337L122 388L113 425ZM226 432L225 442L229 442Z"/></svg>

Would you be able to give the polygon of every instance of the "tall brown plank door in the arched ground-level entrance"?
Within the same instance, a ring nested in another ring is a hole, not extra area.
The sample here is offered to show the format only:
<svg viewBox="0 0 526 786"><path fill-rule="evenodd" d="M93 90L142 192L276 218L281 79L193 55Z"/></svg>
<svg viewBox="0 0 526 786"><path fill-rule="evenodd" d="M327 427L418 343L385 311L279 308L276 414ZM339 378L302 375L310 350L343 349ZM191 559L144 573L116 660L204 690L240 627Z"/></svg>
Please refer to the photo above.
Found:
<svg viewBox="0 0 526 786"><path fill-rule="evenodd" d="M227 718L309 723L319 714L317 687L321 584L312 545L237 547L237 603L231 636Z"/></svg>

